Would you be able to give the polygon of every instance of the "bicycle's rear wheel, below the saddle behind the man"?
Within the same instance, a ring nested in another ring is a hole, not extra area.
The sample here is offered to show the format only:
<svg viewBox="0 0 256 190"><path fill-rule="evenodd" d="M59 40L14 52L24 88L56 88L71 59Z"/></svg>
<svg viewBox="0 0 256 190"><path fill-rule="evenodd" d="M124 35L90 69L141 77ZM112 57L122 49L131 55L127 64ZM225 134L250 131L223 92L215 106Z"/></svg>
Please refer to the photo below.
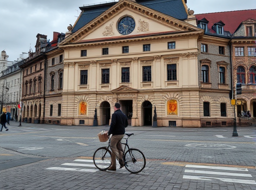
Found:
<svg viewBox="0 0 256 190"><path fill-rule="evenodd" d="M131 173L138 173L144 169L146 159L144 154L135 148L128 149L123 156L125 161L125 168Z"/></svg>

